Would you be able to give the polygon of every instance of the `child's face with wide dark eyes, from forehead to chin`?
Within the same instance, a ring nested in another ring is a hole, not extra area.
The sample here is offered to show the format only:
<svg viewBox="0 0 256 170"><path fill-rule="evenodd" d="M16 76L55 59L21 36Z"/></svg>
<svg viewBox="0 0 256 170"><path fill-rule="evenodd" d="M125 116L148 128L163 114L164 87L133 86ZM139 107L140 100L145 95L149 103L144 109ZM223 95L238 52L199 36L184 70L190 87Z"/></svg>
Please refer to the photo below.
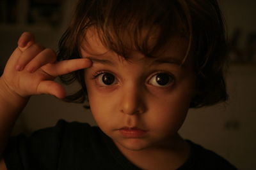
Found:
<svg viewBox="0 0 256 170"><path fill-rule="evenodd" d="M93 66L85 71L85 83L100 129L129 150L170 145L195 94L191 57L179 66L187 41L177 36L157 58L131 51L125 60L108 51L93 29L86 39L81 55Z"/></svg>

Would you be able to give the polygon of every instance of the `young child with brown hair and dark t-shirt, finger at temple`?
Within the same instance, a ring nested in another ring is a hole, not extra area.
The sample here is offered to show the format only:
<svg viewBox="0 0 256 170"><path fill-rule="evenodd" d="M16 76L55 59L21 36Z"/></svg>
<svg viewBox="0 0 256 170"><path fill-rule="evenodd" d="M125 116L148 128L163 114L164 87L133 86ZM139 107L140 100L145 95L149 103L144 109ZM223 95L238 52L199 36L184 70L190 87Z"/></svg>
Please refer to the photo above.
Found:
<svg viewBox="0 0 256 170"><path fill-rule="evenodd" d="M178 134L189 108L227 99L225 47L215 0L80 0L58 55L24 32L6 64L0 169L236 169ZM65 97L60 75L81 89ZM99 127L60 120L8 139L36 94L88 100Z"/></svg>

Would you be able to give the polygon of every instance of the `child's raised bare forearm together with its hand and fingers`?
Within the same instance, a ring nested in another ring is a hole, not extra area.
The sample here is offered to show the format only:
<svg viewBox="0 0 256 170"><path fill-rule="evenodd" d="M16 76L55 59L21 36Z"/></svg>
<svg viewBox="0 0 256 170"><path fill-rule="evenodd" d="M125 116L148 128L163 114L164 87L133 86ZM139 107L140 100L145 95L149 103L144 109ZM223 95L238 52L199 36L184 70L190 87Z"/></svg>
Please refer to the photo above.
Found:
<svg viewBox="0 0 256 170"><path fill-rule="evenodd" d="M54 78L92 65L88 59L56 62L56 53L36 44L29 32L20 36L18 45L0 77L0 162L13 125L29 96L51 94L61 99L65 90Z"/></svg>

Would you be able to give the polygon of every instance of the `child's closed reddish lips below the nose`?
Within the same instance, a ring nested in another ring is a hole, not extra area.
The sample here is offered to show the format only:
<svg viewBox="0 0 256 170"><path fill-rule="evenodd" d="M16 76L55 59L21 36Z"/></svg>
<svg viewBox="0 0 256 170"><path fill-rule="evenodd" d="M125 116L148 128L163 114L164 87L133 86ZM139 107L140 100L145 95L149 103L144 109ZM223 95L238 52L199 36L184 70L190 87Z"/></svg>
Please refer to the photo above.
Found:
<svg viewBox="0 0 256 170"><path fill-rule="evenodd" d="M142 138L147 134L147 131L141 129L122 128L118 129L118 131L124 138Z"/></svg>

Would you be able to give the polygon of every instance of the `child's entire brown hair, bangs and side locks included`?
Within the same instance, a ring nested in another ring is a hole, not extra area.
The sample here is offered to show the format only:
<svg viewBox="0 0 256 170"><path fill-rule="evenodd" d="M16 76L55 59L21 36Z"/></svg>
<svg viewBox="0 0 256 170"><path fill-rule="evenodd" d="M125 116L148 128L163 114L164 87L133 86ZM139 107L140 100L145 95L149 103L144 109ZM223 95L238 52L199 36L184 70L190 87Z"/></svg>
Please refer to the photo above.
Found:
<svg viewBox="0 0 256 170"><path fill-rule="evenodd" d="M193 57L197 76L197 94L191 101L191 108L227 100L223 78L226 32L216 0L148 0L147 3L142 0L80 0L71 24L60 39L58 60L81 57L81 41L92 26L97 29L102 44L122 57L127 57L122 41L124 31L131 35L136 50L149 57L168 45L174 34L186 36L189 41L186 56ZM154 46L148 46L148 38L156 26L157 41ZM141 32L146 36L141 38ZM66 101L83 103L86 99L83 70L60 78L65 84L79 82L81 89L67 96Z"/></svg>

